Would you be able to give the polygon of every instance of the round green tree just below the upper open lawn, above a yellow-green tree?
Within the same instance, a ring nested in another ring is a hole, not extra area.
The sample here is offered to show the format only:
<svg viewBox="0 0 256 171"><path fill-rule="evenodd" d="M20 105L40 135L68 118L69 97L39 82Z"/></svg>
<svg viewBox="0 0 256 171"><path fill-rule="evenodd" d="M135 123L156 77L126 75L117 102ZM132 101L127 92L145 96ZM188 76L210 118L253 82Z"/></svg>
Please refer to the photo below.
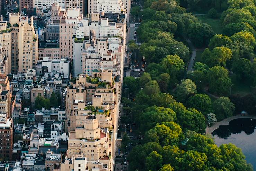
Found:
<svg viewBox="0 0 256 171"><path fill-rule="evenodd" d="M210 40L209 48L213 49L215 47L230 45L231 43L232 43L232 40L230 39L230 37L222 34L215 34Z"/></svg>

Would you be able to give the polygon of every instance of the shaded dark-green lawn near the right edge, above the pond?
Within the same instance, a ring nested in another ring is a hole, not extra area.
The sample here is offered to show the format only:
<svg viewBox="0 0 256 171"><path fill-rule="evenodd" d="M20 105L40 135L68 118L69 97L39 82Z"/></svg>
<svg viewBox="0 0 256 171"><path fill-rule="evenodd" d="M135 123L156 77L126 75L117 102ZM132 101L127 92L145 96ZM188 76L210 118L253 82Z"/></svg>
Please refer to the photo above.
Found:
<svg viewBox="0 0 256 171"><path fill-rule="evenodd" d="M250 79L238 80L235 74L229 75L233 86L231 87L231 94L246 95L252 92L253 81Z"/></svg>

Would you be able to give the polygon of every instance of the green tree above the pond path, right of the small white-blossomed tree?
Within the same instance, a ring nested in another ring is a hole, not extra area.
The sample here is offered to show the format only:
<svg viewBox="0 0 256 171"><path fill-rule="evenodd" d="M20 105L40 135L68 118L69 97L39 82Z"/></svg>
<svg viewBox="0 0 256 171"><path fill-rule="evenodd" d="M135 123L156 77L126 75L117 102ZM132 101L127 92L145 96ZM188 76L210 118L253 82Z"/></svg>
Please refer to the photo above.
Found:
<svg viewBox="0 0 256 171"><path fill-rule="evenodd" d="M213 110L217 121L221 121L233 115L235 105L230 102L228 97L220 97L213 102Z"/></svg>

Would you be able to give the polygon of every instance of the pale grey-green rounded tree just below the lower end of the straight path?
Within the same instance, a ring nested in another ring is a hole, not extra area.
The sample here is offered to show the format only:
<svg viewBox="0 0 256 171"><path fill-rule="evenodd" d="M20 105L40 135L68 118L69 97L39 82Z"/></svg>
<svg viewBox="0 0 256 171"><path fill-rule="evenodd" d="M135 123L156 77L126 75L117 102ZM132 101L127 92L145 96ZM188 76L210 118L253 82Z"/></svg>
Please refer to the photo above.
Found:
<svg viewBox="0 0 256 171"><path fill-rule="evenodd" d="M195 82L185 79L181 80L181 83L177 85L175 97L178 101L185 102L190 95L196 94L196 92Z"/></svg>

